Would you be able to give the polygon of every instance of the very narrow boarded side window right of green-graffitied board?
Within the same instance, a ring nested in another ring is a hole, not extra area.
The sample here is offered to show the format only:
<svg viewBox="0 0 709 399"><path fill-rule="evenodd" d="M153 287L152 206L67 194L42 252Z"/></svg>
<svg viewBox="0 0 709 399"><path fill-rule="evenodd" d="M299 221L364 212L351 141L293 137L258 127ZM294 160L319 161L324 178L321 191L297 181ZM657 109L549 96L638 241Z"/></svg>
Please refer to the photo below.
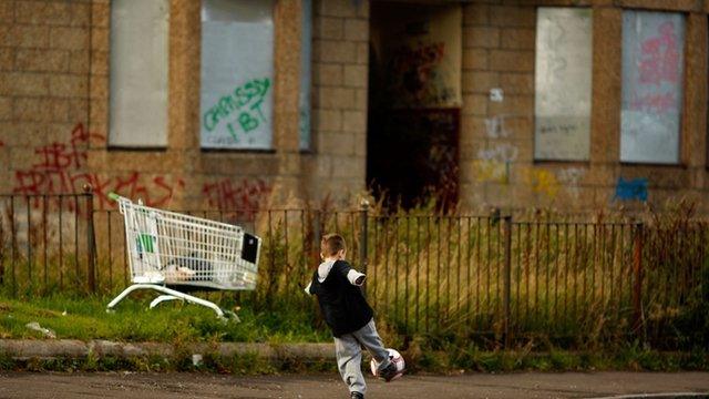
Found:
<svg viewBox="0 0 709 399"><path fill-rule="evenodd" d="M300 35L300 92L298 94L298 131L300 150L310 150L310 54L312 38L312 1L302 0Z"/></svg>

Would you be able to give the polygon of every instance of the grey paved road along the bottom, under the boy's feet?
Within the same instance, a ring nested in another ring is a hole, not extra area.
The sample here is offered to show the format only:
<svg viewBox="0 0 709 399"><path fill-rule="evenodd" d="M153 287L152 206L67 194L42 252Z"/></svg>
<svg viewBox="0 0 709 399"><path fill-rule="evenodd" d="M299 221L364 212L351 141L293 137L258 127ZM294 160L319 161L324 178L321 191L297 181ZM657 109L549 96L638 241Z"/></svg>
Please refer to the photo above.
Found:
<svg viewBox="0 0 709 399"><path fill-rule="evenodd" d="M709 372L564 372L404 376L369 381L367 398L598 398L705 392ZM337 375L234 377L201 374L0 374L0 398L349 398Z"/></svg>

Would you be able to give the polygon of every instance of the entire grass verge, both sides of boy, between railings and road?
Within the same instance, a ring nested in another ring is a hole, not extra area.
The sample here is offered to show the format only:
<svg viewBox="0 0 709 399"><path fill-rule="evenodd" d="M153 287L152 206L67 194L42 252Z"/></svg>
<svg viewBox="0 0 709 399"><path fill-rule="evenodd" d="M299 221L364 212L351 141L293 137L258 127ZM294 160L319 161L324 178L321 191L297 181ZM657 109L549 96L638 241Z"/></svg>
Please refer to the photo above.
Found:
<svg viewBox="0 0 709 399"><path fill-rule="evenodd" d="M11 359L0 355L0 370L136 370L210 371L237 375L280 371L332 371L333 361L301 359L267 360L256 354L219 357L204 354L199 366L191 354L181 350L189 342L330 342L329 331L317 319L317 311L294 310L287 304L269 311L244 308L242 323L222 321L210 309L182 303L162 304L148 309L151 296L135 295L106 313L110 298L97 296L50 296L33 299L0 297L0 338L43 339L41 332L25 327L37 321L52 329L58 338L109 339L117 341L158 341L175 346L171 358L85 358ZM228 300L222 303L227 305ZM233 304L232 304L233 307ZM401 349L411 372L451 374L466 371L562 371L562 370L707 370L709 351L698 348L662 352L638 342L584 350L563 350L543 339L528 339L514 348L485 346L456 335L401 336L386 319L378 320L384 341ZM364 362L366 366L366 362Z"/></svg>

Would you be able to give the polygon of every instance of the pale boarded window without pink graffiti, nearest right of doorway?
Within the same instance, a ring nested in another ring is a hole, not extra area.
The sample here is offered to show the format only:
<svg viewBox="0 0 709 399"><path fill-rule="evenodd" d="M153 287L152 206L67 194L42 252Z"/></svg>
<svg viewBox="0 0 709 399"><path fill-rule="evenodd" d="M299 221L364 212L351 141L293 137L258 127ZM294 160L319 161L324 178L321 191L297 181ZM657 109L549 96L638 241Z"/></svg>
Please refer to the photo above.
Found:
<svg viewBox="0 0 709 399"><path fill-rule="evenodd" d="M537 10L536 160L588 160L592 85L592 11Z"/></svg>

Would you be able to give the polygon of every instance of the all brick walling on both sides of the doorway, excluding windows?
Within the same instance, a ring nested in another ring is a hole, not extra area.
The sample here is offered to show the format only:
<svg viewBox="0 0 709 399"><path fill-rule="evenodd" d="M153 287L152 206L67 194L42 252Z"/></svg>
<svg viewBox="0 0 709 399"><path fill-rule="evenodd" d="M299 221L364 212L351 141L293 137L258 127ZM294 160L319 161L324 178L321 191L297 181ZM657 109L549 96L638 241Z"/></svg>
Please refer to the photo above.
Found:
<svg viewBox="0 0 709 399"><path fill-rule="evenodd" d="M535 7L594 10L588 162L535 163ZM640 205L613 201L619 177L649 178L651 203L707 195L709 1L475 0L463 7L461 198L469 207ZM0 192L80 191L92 183L161 206L302 204L366 186L369 2L314 1L312 142L298 150L298 0L275 12L273 152L199 149L199 3L171 0L168 145L106 147L109 0L0 1ZM687 13L682 164L618 161L621 8ZM504 101L492 102L492 88ZM247 198L242 201L239 198ZM105 205L101 203L100 205Z"/></svg>

